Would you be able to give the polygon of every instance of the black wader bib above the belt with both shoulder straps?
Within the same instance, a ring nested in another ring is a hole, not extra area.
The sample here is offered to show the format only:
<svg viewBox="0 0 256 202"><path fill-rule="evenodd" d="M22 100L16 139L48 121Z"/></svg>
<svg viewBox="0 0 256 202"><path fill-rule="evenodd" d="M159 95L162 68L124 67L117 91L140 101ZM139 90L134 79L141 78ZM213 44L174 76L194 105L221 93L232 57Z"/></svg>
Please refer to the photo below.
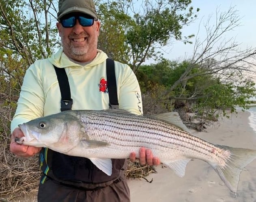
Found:
<svg viewBox="0 0 256 202"><path fill-rule="evenodd" d="M60 93L61 111L71 110L73 99L71 99L70 87L65 68L55 67ZM116 76L114 61L107 59L107 84L110 99L110 108L118 109L118 98L116 89ZM108 176L97 168L88 158L68 156L48 148L43 148L39 155L39 165L44 177L67 186L81 188L84 190L95 190L106 187L113 182L119 181L126 168L125 159L112 159L112 175Z"/></svg>

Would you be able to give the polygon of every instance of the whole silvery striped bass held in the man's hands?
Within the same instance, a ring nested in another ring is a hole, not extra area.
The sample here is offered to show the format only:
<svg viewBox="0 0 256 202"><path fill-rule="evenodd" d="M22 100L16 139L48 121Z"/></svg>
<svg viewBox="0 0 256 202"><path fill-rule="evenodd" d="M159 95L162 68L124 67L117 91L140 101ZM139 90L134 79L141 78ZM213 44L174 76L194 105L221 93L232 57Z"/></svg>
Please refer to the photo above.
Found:
<svg viewBox="0 0 256 202"><path fill-rule="evenodd" d="M191 132L175 112L136 116L125 110L71 110L19 125L24 137L15 141L48 147L70 156L89 158L106 175L111 158L129 158L140 147L178 176L185 175L191 159L209 163L230 191L236 193L242 169L256 158L256 150L215 145Z"/></svg>

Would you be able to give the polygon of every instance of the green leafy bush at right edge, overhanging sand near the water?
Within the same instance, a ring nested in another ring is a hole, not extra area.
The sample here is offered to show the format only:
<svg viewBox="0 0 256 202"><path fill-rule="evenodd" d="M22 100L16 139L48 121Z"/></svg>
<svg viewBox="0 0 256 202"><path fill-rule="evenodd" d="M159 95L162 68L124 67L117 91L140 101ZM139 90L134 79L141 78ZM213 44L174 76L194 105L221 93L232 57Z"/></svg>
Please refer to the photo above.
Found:
<svg viewBox="0 0 256 202"><path fill-rule="evenodd" d="M216 116L219 111L228 116L227 111L236 112L236 106L248 109L251 97L255 97L255 83L251 80L240 80L239 82L221 82L216 79L204 89L202 97L194 105L201 116ZM219 111L217 111L218 109Z"/></svg>

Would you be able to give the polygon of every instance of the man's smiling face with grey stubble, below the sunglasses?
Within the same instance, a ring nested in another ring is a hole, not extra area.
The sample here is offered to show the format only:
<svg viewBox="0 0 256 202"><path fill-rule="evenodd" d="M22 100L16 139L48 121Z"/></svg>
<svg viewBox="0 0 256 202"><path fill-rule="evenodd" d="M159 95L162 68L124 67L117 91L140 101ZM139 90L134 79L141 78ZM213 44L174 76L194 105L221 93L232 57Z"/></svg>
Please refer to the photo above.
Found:
<svg viewBox="0 0 256 202"><path fill-rule="evenodd" d="M92 26L83 27L76 19L75 26L65 28L57 22L63 52L67 57L78 61L92 61L97 55L97 42L100 22L94 21Z"/></svg>

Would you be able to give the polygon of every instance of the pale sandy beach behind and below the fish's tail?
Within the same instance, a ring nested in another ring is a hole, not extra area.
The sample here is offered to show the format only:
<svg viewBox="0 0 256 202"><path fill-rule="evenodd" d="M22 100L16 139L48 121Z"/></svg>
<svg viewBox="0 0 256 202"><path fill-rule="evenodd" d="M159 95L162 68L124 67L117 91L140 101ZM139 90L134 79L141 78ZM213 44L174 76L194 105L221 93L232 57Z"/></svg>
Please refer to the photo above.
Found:
<svg viewBox="0 0 256 202"><path fill-rule="evenodd" d="M220 126L206 132L193 132L207 141L232 147L256 148L256 132L249 125L250 112L239 112L220 120ZM131 202L256 202L256 160L246 166L240 176L235 196L209 164L192 160L185 177L180 178L169 168L157 166L157 173L144 179L128 180Z"/></svg>

